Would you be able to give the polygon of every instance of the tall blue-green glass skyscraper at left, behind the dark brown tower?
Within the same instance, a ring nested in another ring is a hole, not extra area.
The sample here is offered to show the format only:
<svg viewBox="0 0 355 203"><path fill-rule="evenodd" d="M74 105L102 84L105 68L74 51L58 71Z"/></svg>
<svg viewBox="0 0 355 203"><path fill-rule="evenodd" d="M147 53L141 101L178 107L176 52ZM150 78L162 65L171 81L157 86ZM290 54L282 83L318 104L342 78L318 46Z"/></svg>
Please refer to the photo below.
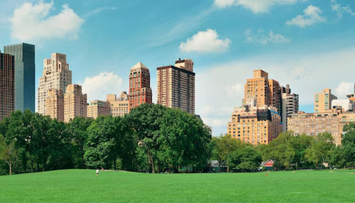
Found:
<svg viewBox="0 0 355 203"><path fill-rule="evenodd" d="M15 110L34 112L34 45L9 45L4 52L15 56Z"/></svg>

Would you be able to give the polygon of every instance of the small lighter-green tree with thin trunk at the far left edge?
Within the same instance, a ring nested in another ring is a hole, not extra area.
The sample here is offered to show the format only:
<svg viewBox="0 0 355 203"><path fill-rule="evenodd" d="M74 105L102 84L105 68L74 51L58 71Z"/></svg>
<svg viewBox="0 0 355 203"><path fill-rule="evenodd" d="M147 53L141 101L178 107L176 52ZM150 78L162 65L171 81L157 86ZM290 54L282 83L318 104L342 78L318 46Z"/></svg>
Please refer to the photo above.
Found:
<svg viewBox="0 0 355 203"><path fill-rule="evenodd" d="M15 148L16 140L6 143L4 137L0 135L0 159L9 165L9 174L12 175L12 167L17 159L17 150Z"/></svg>

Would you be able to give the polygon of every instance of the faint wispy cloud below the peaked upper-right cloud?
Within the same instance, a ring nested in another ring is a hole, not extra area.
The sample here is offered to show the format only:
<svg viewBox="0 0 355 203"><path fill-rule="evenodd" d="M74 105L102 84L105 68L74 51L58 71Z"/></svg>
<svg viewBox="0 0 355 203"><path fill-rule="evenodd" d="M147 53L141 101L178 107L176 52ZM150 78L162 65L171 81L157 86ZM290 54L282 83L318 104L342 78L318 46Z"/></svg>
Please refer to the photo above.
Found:
<svg viewBox="0 0 355 203"><path fill-rule="evenodd" d="M268 43L290 43L291 40L289 38L286 38L285 36L279 34L279 33L274 33L272 30L270 30L268 33L265 33L264 30L259 30L258 35L253 36L252 31L250 29L247 29L245 31L245 36L246 36L246 41L251 42L251 43L260 43L260 44L268 44Z"/></svg>

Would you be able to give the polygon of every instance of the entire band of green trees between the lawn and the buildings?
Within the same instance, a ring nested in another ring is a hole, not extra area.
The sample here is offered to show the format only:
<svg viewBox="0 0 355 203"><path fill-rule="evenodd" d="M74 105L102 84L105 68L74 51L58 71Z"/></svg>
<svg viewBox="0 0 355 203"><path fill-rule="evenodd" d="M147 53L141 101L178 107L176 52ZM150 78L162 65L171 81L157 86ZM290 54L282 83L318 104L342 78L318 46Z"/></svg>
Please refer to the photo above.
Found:
<svg viewBox="0 0 355 203"><path fill-rule="evenodd" d="M253 146L228 134L211 137L202 120L179 109L143 104L124 117L76 117L59 122L38 113L13 112L0 122L0 175L64 168L107 168L149 173L255 172L273 160L276 170L355 165L355 124L341 146L330 133L315 137L281 133Z"/></svg>

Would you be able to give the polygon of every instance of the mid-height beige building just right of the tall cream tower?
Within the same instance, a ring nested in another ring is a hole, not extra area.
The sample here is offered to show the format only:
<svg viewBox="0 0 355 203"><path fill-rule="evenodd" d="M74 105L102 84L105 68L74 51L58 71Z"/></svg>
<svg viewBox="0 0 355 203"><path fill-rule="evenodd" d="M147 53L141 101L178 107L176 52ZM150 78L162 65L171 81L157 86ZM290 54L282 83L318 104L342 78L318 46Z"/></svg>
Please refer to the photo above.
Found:
<svg viewBox="0 0 355 203"><path fill-rule="evenodd" d="M64 122L76 116L86 118L87 105L87 95L82 93L81 85L68 85L64 93Z"/></svg>

